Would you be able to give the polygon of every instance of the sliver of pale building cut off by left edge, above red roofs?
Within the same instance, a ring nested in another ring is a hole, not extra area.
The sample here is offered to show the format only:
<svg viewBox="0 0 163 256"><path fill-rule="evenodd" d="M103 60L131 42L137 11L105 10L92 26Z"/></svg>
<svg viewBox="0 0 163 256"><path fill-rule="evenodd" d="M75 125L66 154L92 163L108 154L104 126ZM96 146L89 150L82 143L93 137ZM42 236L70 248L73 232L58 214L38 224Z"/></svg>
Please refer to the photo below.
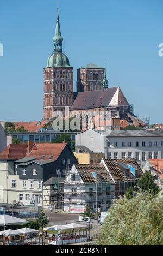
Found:
<svg viewBox="0 0 163 256"><path fill-rule="evenodd" d="M0 152L12 143L12 137L5 135L5 122L0 121Z"/></svg>

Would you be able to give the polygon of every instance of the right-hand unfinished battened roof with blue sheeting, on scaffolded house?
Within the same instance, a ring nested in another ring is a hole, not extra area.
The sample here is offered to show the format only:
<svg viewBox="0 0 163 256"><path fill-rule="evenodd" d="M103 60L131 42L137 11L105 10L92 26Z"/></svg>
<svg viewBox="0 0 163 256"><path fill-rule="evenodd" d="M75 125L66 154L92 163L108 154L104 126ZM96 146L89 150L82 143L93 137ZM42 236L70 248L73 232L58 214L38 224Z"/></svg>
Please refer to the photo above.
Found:
<svg viewBox="0 0 163 256"><path fill-rule="evenodd" d="M136 170L139 170L140 177L143 175L143 172L135 159L105 159L104 163L106 164L106 167L108 168L115 182L136 180L134 175L130 175L130 178L127 178L124 175L123 169L125 166L128 168L128 165L134 166Z"/></svg>

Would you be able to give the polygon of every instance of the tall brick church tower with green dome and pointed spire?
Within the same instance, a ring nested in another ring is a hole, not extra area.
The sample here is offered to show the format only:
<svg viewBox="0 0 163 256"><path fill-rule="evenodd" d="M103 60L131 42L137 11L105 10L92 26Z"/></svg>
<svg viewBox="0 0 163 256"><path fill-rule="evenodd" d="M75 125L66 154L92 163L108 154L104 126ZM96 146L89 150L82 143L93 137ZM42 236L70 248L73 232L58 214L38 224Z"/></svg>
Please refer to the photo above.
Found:
<svg viewBox="0 0 163 256"><path fill-rule="evenodd" d="M62 52L63 38L61 36L59 14L53 37L54 52L49 56L43 74L43 118L51 120L54 111L62 111L65 106L73 104L73 67Z"/></svg>

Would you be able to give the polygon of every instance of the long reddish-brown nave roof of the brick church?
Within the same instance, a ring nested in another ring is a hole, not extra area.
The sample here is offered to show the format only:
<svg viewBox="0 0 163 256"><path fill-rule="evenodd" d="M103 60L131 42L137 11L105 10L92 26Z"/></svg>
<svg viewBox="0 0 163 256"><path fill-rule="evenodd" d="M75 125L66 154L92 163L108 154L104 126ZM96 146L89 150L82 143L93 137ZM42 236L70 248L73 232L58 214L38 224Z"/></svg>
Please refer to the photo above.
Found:
<svg viewBox="0 0 163 256"><path fill-rule="evenodd" d="M92 109L102 106L129 106L120 87L79 92L71 110Z"/></svg>

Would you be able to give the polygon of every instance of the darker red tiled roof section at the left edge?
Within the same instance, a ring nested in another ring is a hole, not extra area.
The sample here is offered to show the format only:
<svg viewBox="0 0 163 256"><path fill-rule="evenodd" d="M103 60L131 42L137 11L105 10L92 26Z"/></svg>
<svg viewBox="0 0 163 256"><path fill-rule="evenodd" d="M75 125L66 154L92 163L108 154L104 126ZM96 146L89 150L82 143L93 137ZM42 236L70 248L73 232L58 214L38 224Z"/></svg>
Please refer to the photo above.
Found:
<svg viewBox="0 0 163 256"><path fill-rule="evenodd" d="M10 144L0 153L0 160L17 160L26 157L27 144Z"/></svg>

